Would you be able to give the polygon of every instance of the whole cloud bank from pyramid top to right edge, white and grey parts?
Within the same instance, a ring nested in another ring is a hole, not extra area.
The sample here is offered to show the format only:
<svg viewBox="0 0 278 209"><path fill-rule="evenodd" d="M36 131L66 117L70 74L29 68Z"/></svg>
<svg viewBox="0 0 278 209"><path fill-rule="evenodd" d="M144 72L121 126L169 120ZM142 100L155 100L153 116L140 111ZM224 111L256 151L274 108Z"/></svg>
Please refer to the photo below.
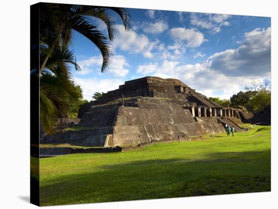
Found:
<svg viewBox="0 0 278 209"><path fill-rule="evenodd" d="M257 28L245 33L238 48L215 53L204 63L182 65L165 60L141 65L137 73L177 78L206 96L227 99L253 80L270 76L270 31ZM158 47L165 48L161 44Z"/></svg>

